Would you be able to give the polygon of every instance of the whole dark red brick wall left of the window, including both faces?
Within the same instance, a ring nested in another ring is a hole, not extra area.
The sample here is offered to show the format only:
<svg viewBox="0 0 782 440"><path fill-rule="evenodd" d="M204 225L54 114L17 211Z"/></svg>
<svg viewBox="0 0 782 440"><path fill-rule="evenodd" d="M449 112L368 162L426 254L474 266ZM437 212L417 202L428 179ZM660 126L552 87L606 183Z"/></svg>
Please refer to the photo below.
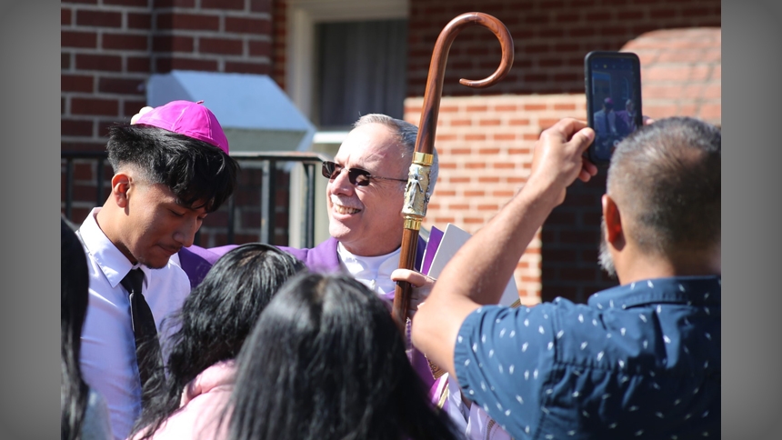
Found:
<svg viewBox="0 0 782 440"><path fill-rule="evenodd" d="M146 104L145 82L153 73L270 73L271 12L271 0L63 1L62 149L105 150L108 126L128 122ZM95 195L96 175L94 162L75 164L76 222L108 194L111 168L105 166L103 195ZM246 176L248 182L253 178ZM64 200L65 178L63 184ZM248 232L245 220L237 220L237 234ZM218 234L209 227L215 221L203 232L220 244L225 233L210 236Z"/></svg>

